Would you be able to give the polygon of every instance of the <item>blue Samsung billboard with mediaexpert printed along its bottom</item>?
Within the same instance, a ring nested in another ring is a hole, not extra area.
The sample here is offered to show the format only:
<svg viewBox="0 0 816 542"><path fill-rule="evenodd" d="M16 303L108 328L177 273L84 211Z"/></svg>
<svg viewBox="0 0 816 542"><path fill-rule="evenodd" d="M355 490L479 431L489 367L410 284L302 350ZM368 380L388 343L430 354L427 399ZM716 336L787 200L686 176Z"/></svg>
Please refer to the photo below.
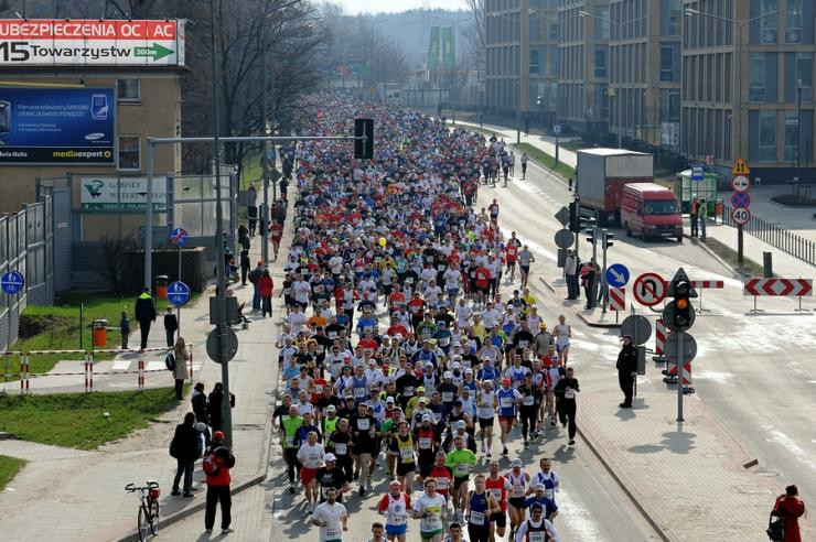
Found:
<svg viewBox="0 0 816 542"><path fill-rule="evenodd" d="M0 87L0 163L116 162L112 88Z"/></svg>

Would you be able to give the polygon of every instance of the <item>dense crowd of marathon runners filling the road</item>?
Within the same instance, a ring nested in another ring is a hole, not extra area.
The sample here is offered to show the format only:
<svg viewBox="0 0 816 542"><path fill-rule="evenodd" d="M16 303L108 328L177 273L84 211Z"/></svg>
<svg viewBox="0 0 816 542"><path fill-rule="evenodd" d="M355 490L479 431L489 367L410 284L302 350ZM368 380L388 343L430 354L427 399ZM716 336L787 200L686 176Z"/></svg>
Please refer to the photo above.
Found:
<svg viewBox="0 0 816 542"><path fill-rule="evenodd" d="M292 150L273 421L289 492L321 541L350 525L375 542L560 540L559 478L538 451L559 425L575 445L580 388L569 324L548 329L530 293L533 253L480 199L508 149L397 108L310 106L313 134L371 117L376 145L365 162L346 142ZM512 441L540 460L511 459ZM344 501L369 498L382 523L348 518Z"/></svg>

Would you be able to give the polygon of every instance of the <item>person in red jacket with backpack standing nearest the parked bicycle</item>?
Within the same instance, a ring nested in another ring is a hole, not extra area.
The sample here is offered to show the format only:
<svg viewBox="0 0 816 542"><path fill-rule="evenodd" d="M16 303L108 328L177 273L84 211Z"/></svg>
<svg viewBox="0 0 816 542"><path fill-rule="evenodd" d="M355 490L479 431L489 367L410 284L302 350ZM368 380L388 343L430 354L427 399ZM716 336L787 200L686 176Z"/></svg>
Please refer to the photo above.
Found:
<svg viewBox="0 0 816 542"><path fill-rule="evenodd" d="M229 469L235 466L235 456L229 446L224 442L224 433L216 431L213 433L213 443L210 449L204 454L202 469L206 475L207 498L206 511L204 513L204 530L207 533L213 532L215 524L215 508L221 502L221 533L229 534L233 529L230 509L233 498L229 492Z"/></svg>

